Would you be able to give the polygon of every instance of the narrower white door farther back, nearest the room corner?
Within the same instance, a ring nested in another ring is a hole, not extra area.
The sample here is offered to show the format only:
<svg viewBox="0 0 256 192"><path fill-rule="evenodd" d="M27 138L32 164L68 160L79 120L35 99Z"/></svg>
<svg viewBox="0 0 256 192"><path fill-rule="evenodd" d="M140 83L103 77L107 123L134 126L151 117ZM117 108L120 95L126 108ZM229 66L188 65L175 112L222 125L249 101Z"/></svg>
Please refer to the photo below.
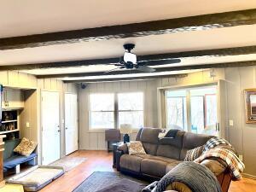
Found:
<svg viewBox="0 0 256 192"><path fill-rule="evenodd" d="M65 94L65 143L66 155L79 149L78 96Z"/></svg>

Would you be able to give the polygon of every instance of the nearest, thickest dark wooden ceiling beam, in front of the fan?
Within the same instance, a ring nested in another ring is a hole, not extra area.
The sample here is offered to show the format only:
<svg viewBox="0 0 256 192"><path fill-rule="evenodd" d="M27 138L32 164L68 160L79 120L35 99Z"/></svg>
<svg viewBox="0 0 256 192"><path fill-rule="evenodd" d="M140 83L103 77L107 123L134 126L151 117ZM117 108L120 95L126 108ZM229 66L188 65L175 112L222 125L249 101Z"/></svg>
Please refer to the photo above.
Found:
<svg viewBox="0 0 256 192"><path fill-rule="evenodd" d="M50 44L71 44L81 41L143 37L172 32L208 30L212 28L253 24L256 24L256 9L247 9L119 26L102 26L66 32L49 32L21 37L1 38L0 49L22 49Z"/></svg>

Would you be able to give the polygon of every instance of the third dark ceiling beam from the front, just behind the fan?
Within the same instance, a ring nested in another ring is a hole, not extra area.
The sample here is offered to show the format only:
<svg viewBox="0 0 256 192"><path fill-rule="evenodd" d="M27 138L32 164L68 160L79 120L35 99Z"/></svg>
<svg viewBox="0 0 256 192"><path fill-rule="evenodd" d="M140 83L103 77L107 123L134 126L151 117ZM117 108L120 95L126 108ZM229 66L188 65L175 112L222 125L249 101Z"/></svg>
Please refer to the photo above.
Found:
<svg viewBox="0 0 256 192"><path fill-rule="evenodd" d="M193 65L193 66L177 66L177 67L160 67L156 68L154 73L160 72L172 72L172 71L183 71L183 70L193 70L193 69L207 69L207 68L224 68L224 67L249 67L249 66L256 66L256 61L238 61L238 62L225 62L225 63L218 63L218 64L205 64L205 65ZM102 72L97 73L71 73L71 74L55 74L55 75L40 75L37 78L83 78L83 77L91 77L91 76L100 76L100 75L121 75L121 74L141 74L137 70L125 70L125 71L114 71L112 73L104 74ZM154 76L154 73L151 73ZM162 77L163 75L159 75ZM106 79L106 78L102 78ZM131 78L132 79L132 78ZM99 81L101 79L98 79ZM73 80L65 80L73 82ZM84 82L86 80L75 80L75 82Z"/></svg>

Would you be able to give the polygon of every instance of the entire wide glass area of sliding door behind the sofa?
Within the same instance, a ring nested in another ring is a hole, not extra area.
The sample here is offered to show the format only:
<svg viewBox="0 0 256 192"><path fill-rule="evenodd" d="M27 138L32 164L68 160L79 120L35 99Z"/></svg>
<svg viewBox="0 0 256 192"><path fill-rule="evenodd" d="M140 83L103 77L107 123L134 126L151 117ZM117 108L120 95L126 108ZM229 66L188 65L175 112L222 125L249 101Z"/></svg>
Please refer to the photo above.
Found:
<svg viewBox="0 0 256 192"><path fill-rule="evenodd" d="M177 125L185 131L218 135L216 94L215 85L165 90L166 127Z"/></svg>

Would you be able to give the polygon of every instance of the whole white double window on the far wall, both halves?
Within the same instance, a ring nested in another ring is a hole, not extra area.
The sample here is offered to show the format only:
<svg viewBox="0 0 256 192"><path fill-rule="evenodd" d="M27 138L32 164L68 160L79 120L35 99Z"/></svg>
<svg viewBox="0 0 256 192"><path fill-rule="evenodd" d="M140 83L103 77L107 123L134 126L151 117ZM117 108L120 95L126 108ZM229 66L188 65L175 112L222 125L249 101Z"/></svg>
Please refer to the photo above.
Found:
<svg viewBox="0 0 256 192"><path fill-rule="evenodd" d="M144 125L143 93L90 94L90 129L113 129Z"/></svg>

